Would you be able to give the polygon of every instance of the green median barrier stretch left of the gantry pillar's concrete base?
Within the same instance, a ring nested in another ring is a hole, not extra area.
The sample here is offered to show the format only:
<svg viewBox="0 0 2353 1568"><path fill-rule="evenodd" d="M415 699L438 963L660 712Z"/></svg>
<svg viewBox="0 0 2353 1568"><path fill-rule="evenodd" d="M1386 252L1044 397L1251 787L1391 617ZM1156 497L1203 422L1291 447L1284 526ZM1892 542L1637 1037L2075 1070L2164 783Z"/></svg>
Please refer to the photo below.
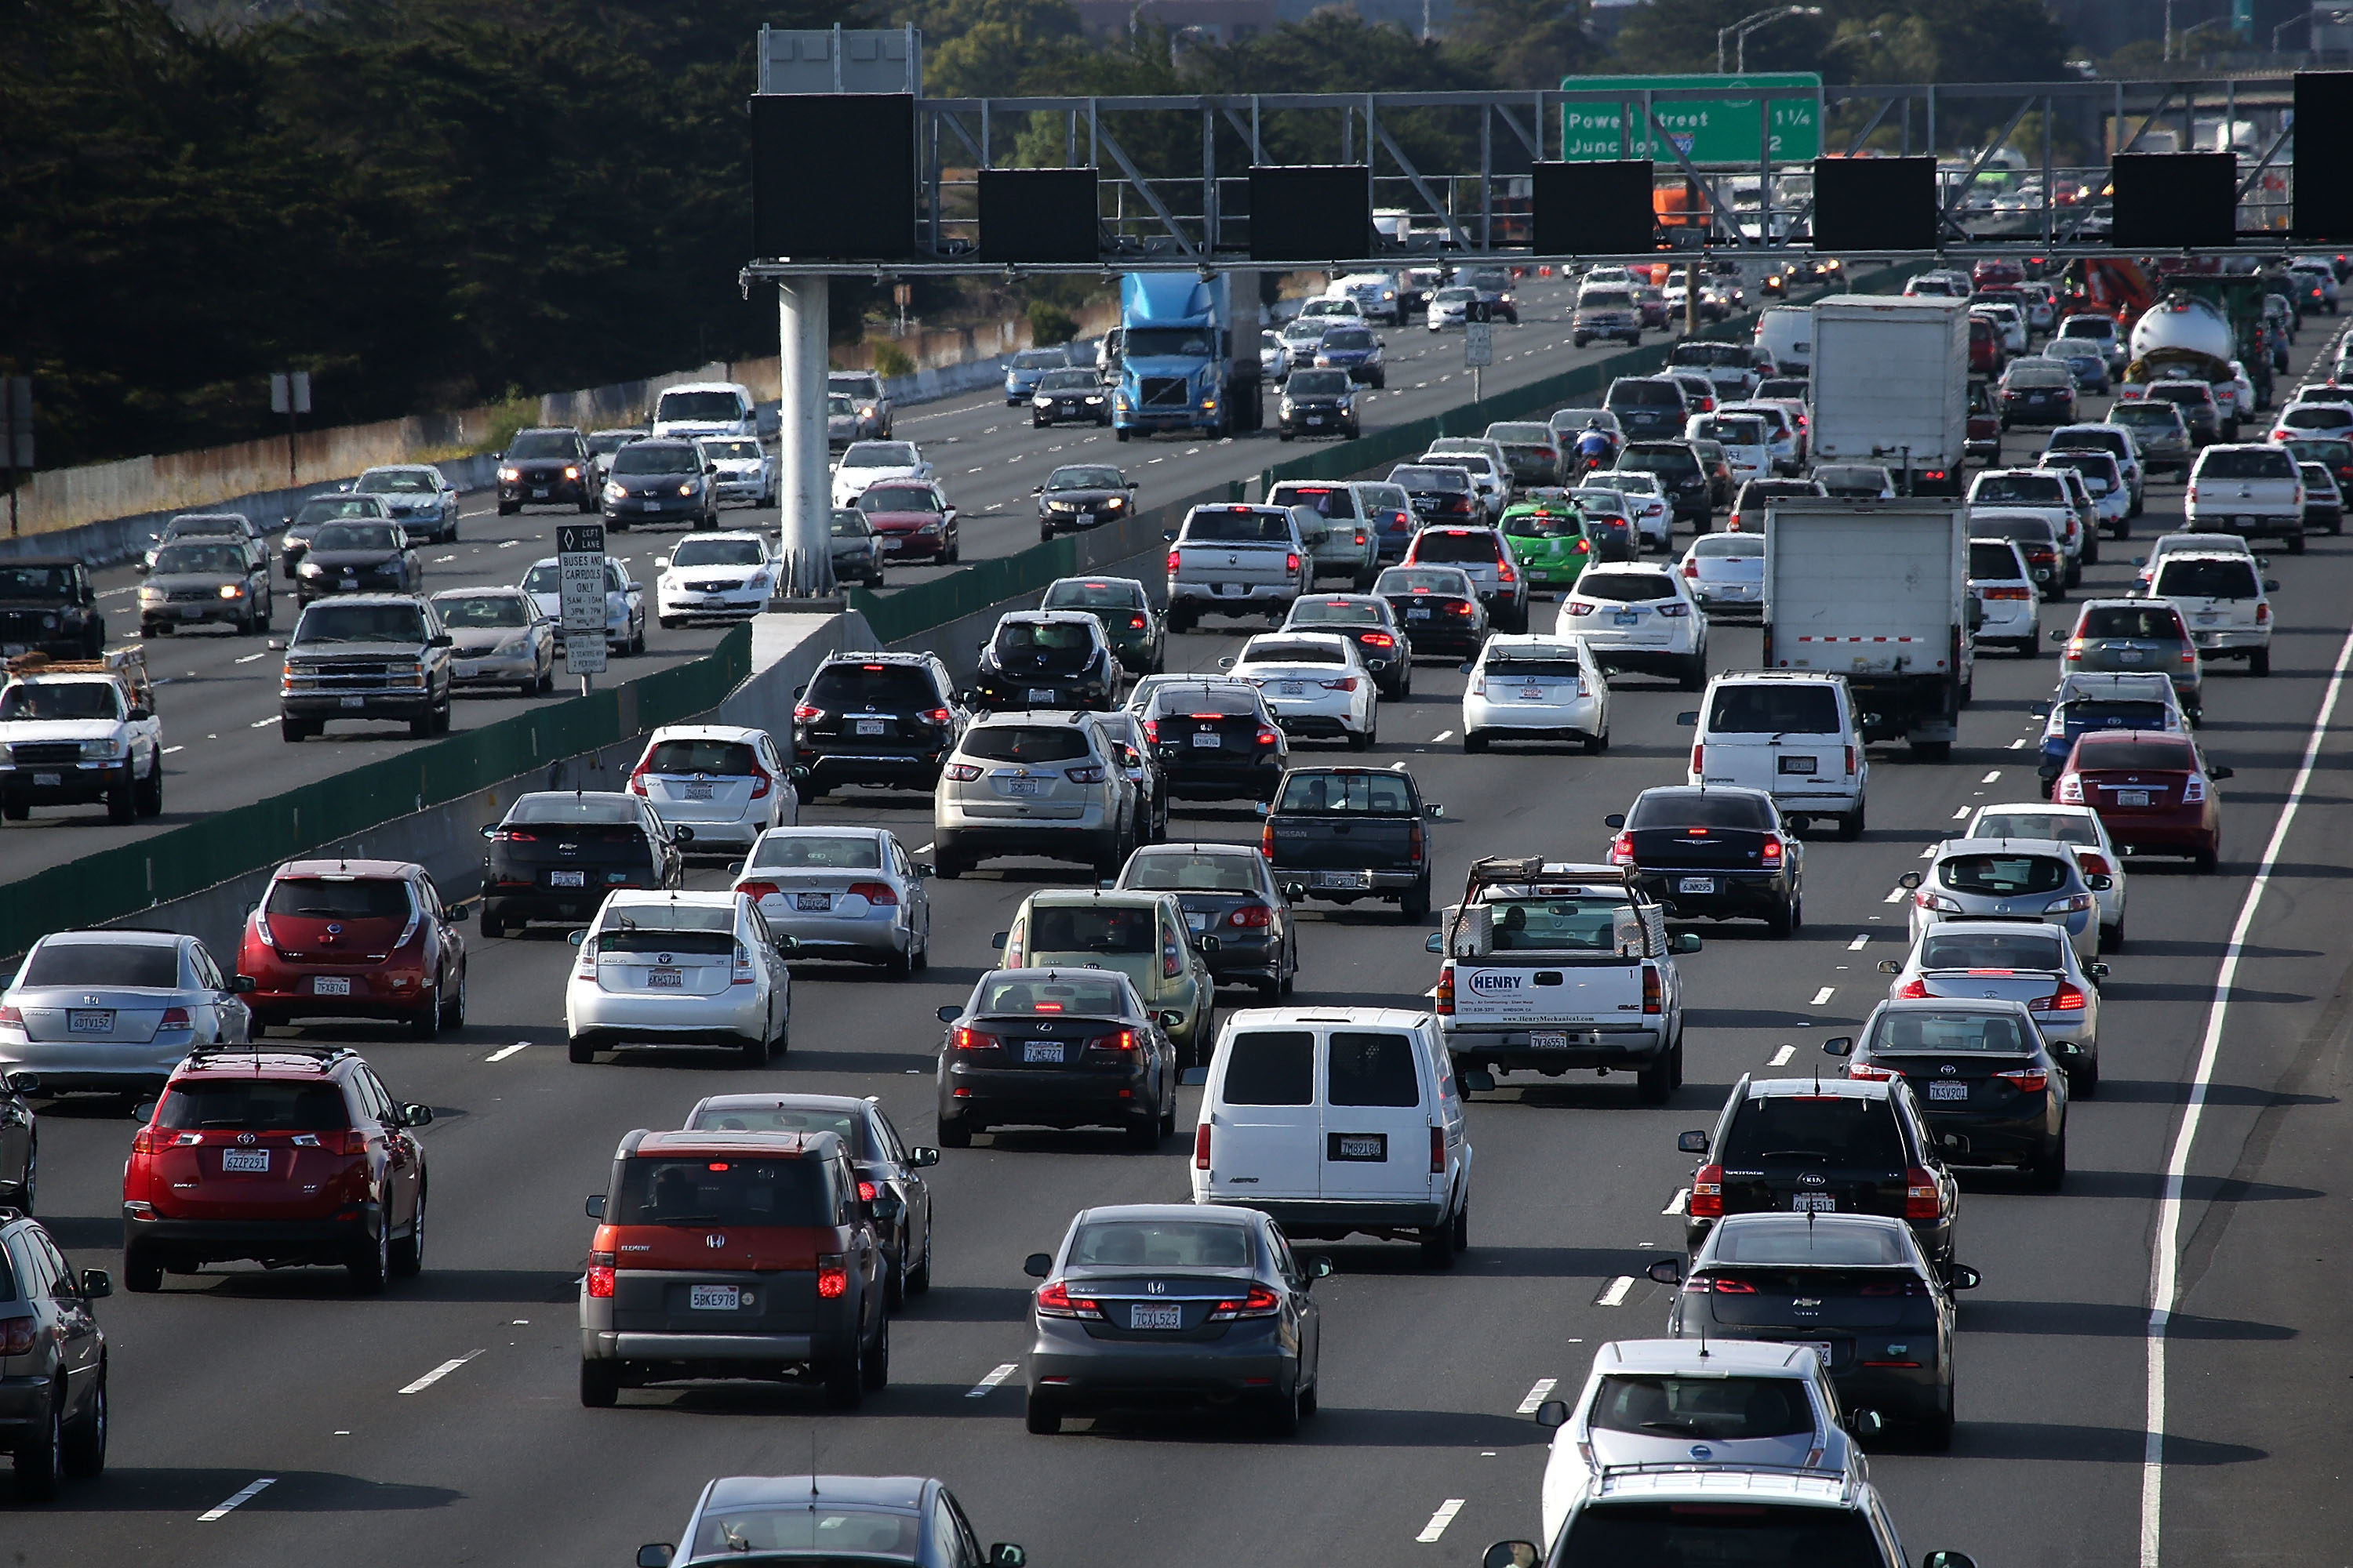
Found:
<svg viewBox="0 0 2353 1568"><path fill-rule="evenodd" d="M0 891L0 952L24 952L45 931L94 926L200 893L640 729L689 719L718 708L746 675L751 628L736 625L696 661L52 865Z"/></svg>

